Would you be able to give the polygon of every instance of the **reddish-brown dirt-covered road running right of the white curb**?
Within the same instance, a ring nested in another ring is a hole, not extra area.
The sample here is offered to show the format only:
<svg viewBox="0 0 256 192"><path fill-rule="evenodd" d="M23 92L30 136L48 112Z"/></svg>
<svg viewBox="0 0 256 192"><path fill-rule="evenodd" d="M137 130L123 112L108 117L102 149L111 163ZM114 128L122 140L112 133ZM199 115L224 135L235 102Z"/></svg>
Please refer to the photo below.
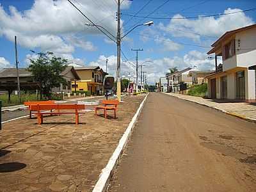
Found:
<svg viewBox="0 0 256 192"><path fill-rule="evenodd" d="M109 191L256 191L256 124L150 93Z"/></svg>

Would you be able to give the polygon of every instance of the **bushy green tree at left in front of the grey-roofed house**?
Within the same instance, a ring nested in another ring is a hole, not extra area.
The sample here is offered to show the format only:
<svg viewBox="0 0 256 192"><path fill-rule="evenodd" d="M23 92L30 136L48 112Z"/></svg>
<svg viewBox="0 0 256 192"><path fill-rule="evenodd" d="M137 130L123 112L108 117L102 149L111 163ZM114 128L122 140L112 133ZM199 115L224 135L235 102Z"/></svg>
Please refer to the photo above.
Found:
<svg viewBox="0 0 256 192"><path fill-rule="evenodd" d="M51 99L51 90L60 87L60 84L67 85L66 79L61 72L67 67L67 60L54 56L53 52L40 52L36 60L30 60L29 71L34 76L34 81L40 83L40 99L42 94Z"/></svg>

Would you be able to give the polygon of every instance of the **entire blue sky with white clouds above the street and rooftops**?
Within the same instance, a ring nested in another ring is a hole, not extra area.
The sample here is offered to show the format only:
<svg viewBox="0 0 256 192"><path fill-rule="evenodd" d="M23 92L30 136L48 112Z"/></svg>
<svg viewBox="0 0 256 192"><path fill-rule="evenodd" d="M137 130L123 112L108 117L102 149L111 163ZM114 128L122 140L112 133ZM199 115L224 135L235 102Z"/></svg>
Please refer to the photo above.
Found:
<svg viewBox="0 0 256 192"><path fill-rule="evenodd" d="M116 35L115 0L72 2L93 22ZM103 69L108 58L108 72L115 75L115 44L98 29L85 26L88 20L67 0L0 0L0 4L0 68L12 67L15 63L13 41L17 35L20 67L28 66L29 58L36 58L30 50L53 51L70 63L100 65ZM134 63L136 53L131 49L143 48L139 52L139 63L151 61L145 63L143 68L148 72L150 83L157 81L170 67L182 69L196 66L200 70L210 70L214 67L214 61L208 60L206 52L211 49L212 42L225 31L254 24L255 10L240 12L252 8L256 8L256 1L125 0L122 3L123 33L134 24L148 20L154 20L154 26L141 26L132 31L124 38L122 51ZM139 10L136 17L131 17ZM232 12L239 13L198 17ZM141 18L147 15L170 19ZM128 72L134 74L133 64L125 62L124 56L122 61L122 75L127 76Z"/></svg>

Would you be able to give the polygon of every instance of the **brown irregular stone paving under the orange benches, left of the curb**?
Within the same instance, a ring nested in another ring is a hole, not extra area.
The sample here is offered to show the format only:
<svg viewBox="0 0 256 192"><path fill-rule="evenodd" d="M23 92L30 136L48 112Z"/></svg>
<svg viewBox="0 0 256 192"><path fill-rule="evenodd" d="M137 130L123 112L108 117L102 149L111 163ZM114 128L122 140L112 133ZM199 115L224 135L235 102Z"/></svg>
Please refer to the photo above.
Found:
<svg viewBox="0 0 256 192"><path fill-rule="evenodd" d="M144 97L124 97L117 119L47 116L8 122L0 132L0 191L92 191ZM111 114L111 112L109 112Z"/></svg>

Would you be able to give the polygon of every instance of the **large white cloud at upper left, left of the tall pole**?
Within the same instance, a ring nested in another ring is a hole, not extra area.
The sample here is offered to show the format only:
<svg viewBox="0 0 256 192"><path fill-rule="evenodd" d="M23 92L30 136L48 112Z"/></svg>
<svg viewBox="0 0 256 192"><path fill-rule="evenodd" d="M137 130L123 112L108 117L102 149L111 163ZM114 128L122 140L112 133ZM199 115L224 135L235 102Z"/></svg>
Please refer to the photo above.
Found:
<svg viewBox="0 0 256 192"><path fill-rule="evenodd" d="M76 0L74 4L95 24L107 26L109 32L116 33L115 1ZM122 8L129 8L130 4L129 1L124 1ZM75 47L95 51L96 47L92 42L77 40L76 34L102 35L99 29L85 26L84 23L88 20L65 0L35 0L31 9L23 12L13 6L9 9L10 14L0 4L0 36L13 41L17 35L18 44L29 49L40 48L42 51L60 54L72 54ZM68 35L72 38L67 39Z"/></svg>

